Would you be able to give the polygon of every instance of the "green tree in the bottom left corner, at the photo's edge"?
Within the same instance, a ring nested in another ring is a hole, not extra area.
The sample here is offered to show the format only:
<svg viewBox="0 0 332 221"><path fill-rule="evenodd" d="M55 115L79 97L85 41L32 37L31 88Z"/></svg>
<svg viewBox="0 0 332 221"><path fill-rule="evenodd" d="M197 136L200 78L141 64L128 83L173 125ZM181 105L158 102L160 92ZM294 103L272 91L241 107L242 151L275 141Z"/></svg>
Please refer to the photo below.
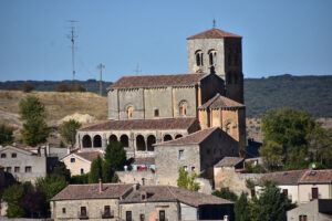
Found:
<svg viewBox="0 0 332 221"><path fill-rule="evenodd" d="M8 203L7 215L9 218L22 218L24 210L20 201L24 194L22 185L12 185L3 191L2 199Z"/></svg>

